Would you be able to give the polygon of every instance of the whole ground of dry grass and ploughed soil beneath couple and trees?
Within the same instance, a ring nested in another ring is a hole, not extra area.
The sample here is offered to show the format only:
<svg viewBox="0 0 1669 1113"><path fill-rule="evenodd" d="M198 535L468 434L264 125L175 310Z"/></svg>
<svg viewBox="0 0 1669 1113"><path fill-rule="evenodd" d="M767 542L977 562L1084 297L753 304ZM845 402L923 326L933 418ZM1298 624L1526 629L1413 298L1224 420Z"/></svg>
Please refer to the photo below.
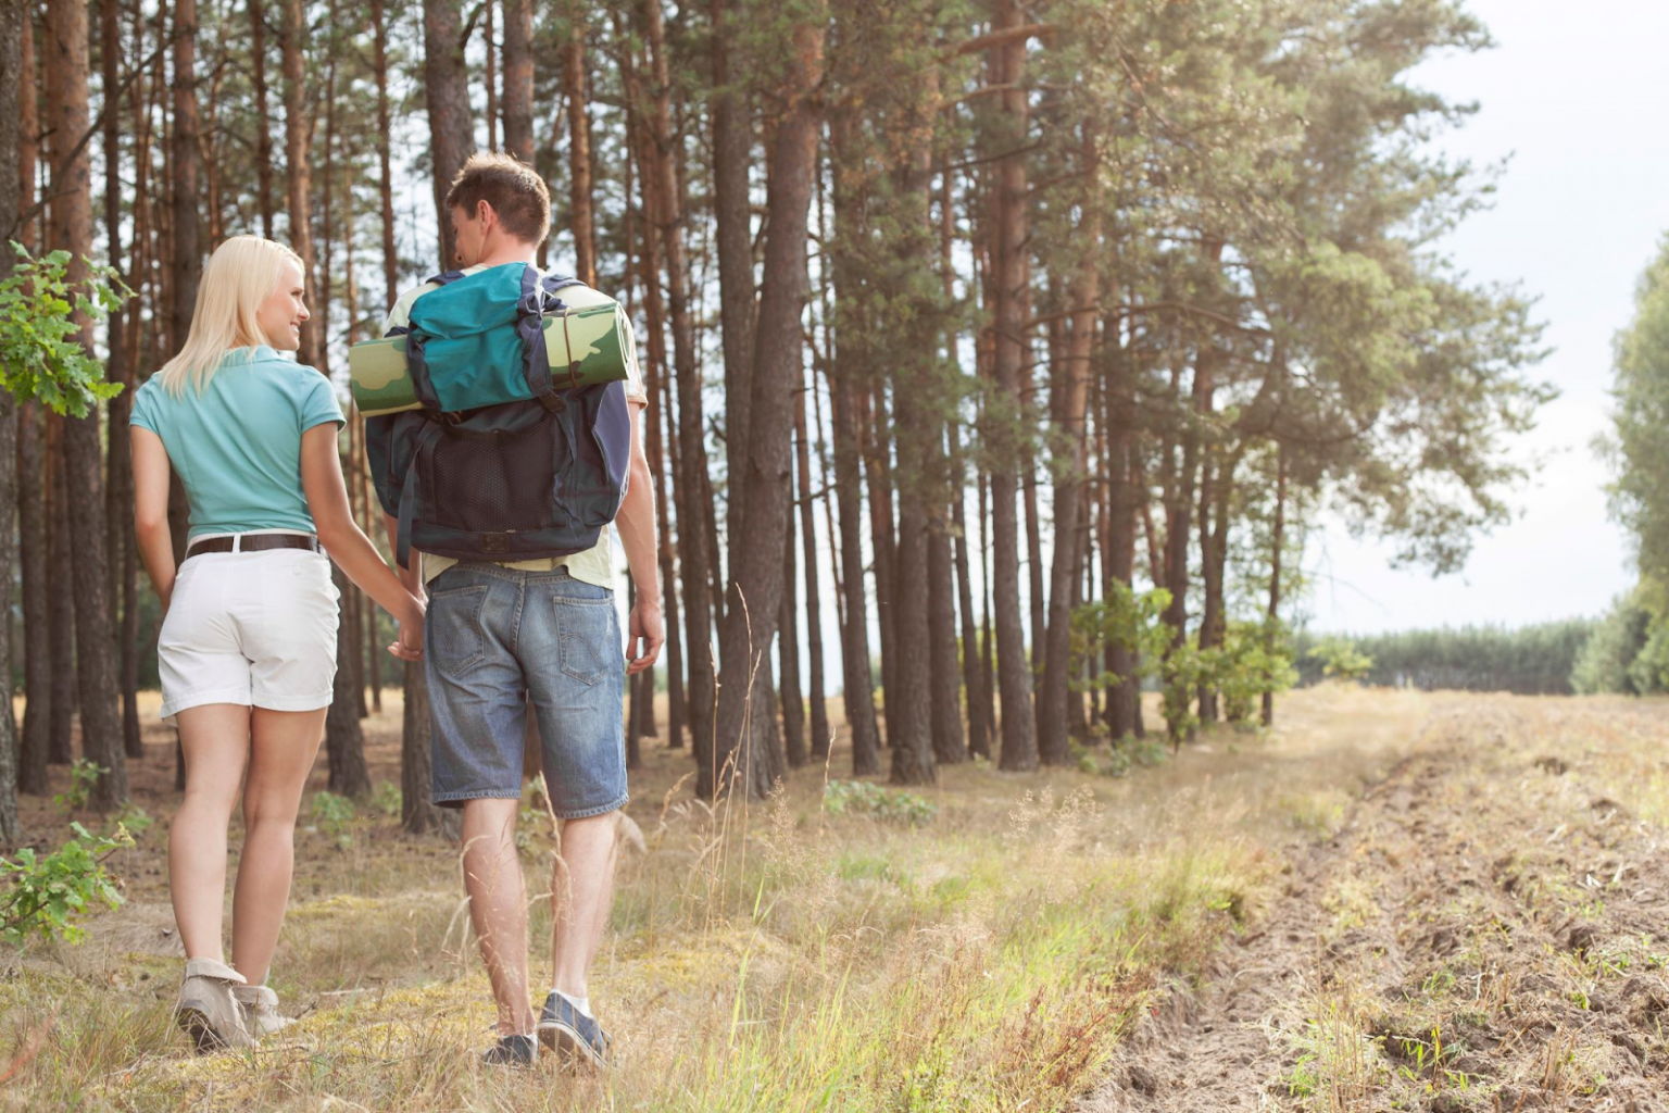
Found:
<svg viewBox="0 0 1669 1113"><path fill-rule="evenodd" d="M880 814L826 791L840 749L714 814L688 753L646 743L646 848L591 986L603 1078L477 1065L456 846L386 811L397 692L366 723L382 808L304 806L272 975L302 1023L192 1055L172 731L147 719L127 904L83 943L0 949L0 1106L1664 1110L1664 711L1330 686L1122 778L970 763ZM72 816L23 818L52 844ZM537 981L552 839L532 806L522 828Z"/></svg>

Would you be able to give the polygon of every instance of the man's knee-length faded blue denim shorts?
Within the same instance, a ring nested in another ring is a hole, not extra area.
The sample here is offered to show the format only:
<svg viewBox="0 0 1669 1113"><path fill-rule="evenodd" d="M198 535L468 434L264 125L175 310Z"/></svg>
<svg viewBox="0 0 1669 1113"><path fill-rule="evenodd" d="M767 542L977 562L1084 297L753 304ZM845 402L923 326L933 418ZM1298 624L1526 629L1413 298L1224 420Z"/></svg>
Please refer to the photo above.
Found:
<svg viewBox="0 0 1669 1113"><path fill-rule="evenodd" d="M434 803L519 798L527 708L562 819L626 803L626 654L614 592L566 569L464 562L429 581Z"/></svg>

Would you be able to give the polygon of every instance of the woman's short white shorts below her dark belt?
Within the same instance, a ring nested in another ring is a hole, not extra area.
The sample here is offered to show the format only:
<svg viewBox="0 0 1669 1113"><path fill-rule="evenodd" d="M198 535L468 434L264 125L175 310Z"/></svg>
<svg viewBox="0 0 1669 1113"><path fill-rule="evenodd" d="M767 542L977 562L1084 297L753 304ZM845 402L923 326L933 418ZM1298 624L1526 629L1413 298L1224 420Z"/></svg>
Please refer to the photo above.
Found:
<svg viewBox="0 0 1669 1113"><path fill-rule="evenodd" d="M307 549L205 552L180 564L157 636L162 719L204 704L330 706L337 592Z"/></svg>

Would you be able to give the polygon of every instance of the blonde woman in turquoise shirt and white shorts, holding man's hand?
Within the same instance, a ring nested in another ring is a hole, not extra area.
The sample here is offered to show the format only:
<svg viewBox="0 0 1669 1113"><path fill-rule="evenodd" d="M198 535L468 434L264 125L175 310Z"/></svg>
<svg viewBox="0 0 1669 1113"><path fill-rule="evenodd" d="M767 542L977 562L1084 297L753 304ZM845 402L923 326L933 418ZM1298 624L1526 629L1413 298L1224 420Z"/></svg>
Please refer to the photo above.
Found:
<svg viewBox="0 0 1669 1113"><path fill-rule="evenodd" d="M162 716L179 726L185 754L185 799L169 831L185 944L175 1015L204 1050L249 1046L289 1023L265 981L290 893L295 811L335 677L332 559L399 619L389 651L422 656L424 604L349 511L335 394L317 370L279 355L299 347L307 315L295 252L234 237L204 269L184 349L134 399L139 551L165 614ZM170 471L190 504L179 564ZM227 826L240 786L229 964Z"/></svg>

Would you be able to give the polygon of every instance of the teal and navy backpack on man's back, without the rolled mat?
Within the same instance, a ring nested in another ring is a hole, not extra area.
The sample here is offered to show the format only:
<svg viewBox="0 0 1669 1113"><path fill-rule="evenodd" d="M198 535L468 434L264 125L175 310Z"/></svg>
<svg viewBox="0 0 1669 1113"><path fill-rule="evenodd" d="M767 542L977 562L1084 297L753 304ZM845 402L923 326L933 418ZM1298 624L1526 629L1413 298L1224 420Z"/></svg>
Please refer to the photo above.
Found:
<svg viewBox="0 0 1669 1113"><path fill-rule="evenodd" d="M412 546L501 562L591 549L626 497L631 415L623 382L552 382L544 317L582 284L517 264L429 282L406 330L422 407L366 419L399 564Z"/></svg>

